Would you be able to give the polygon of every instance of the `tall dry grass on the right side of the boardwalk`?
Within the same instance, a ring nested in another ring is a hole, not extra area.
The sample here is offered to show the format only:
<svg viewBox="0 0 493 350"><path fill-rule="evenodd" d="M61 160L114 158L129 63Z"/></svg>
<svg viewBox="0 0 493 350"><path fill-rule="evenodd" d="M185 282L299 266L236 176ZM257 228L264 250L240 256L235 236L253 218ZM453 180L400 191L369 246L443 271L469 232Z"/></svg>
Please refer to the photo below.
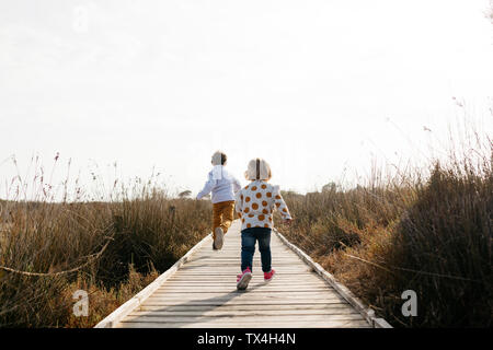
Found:
<svg viewBox="0 0 493 350"><path fill-rule="evenodd" d="M286 192L296 220L282 232L394 326L489 327L491 141L483 154L414 175L374 175L352 189ZM405 290L417 293L415 317L402 315Z"/></svg>

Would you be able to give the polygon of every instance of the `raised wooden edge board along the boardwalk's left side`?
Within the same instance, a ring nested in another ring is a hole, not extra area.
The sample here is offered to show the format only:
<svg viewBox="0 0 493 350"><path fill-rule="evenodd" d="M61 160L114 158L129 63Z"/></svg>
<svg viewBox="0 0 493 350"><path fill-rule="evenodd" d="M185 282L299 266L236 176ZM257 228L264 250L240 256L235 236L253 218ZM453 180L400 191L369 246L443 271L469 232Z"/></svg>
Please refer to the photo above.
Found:
<svg viewBox="0 0 493 350"><path fill-rule="evenodd" d="M190 257L198 250L203 245L207 242L213 241L213 234L209 233L206 235L200 242L198 242L195 246L192 247L184 256L182 256L172 267L165 270L162 275L160 275L156 280L153 280L149 285L142 289L139 293L129 299L122 306L116 308L113 313L107 315L103 320L101 320L94 328L113 328L115 327L121 319L129 315L134 310L139 307L146 299L148 299L156 290L158 290L162 283L164 283L170 277L173 276L177 269L185 264Z"/></svg>

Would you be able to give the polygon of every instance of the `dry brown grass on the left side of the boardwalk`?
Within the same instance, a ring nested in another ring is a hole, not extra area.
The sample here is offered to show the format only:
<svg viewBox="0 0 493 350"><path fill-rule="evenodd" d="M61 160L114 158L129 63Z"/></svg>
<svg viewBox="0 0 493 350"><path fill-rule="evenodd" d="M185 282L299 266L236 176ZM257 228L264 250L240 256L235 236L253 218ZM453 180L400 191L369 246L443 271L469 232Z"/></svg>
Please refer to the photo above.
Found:
<svg viewBox="0 0 493 350"><path fill-rule="evenodd" d="M60 276L0 270L0 326L92 327L210 231L208 201L148 185L127 192L108 202L0 202L1 266L49 273L83 266ZM88 317L72 314L80 289L90 295Z"/></svg>

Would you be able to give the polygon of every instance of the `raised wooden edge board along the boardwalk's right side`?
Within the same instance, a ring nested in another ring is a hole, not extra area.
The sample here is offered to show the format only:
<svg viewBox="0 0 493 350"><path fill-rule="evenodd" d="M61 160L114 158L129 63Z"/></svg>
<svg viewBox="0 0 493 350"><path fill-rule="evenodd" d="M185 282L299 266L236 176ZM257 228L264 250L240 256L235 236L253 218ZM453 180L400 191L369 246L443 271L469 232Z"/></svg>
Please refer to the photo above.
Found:
<svg viewBox="0 0 493 350"><path fill-rule="evenodd" d="M273 229L280 241L287 245L293 252L295 252L308 266L310 266L314 272L323 278L330 285L332 285L342 298L344 298L374 328L392 328L392 326L383 318L376 317L375 311L366 306L359 299L357 299L345 285L337 282L337 280L323 267L313 261L303 250L290 243L279 231Z"/></svg>

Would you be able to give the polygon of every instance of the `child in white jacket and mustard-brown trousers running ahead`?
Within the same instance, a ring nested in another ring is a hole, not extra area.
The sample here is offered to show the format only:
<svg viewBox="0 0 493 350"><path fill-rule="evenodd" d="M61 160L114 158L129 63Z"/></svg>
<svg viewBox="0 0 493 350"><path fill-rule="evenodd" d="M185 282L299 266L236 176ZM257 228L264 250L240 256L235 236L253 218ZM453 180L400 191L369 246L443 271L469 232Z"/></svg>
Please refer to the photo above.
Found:
<svg viewBox="0 0 493 350"><path fill-rule="evenodd" d="M209 172L204 188L197 199L213 192L213 249L220 249L223 236L234 219L234 194L240 190L240 182L226 168L227 156L217 151L213 154L214 168Z"/></svg>

